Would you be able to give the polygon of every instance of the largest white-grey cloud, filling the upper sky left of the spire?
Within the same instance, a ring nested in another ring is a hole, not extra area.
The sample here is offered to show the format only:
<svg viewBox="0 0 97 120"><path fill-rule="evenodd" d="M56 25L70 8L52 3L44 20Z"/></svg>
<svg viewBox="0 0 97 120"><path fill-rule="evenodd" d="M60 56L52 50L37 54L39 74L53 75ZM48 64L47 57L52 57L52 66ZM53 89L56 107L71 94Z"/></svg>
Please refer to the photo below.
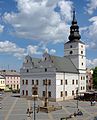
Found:
<svg viewBox="0 0 97 120"><path fill-rule="evenodd" d="M72 2L67 0L17 0L18 13L5 13L17 36L40 41L67 40ZM55 7L60 12L54 11ZM61 19L63 16L64 21Z"/></svg>

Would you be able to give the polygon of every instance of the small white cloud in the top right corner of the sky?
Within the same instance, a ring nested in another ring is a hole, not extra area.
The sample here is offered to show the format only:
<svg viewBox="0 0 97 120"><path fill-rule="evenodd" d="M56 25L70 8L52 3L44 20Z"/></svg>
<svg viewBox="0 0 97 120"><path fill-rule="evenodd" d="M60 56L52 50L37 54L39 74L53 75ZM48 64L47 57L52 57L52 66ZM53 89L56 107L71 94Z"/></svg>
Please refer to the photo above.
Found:
<svg viewBox="0 0 97 120"><path fill-rule="evenodd" d="M87 8L86 11L88 12L88 14L92 14L94 12L94 10L97 9L97 0L87 0Z"/></svg>

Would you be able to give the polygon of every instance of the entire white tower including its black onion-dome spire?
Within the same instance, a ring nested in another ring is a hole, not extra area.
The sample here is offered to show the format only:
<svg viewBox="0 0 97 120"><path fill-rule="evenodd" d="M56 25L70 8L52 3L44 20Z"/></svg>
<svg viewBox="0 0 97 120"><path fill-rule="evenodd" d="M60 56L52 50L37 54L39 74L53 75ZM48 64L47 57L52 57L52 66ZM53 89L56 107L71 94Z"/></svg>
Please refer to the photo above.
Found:
<svg viewBox="0 0 97 120"><path fill-rule="evenodd" d="M70 27L69 41L64 44L64 56L71 59L79 73L79 90L86 90L86 54L85 43L80 39L79 26L73 11L73 20ZM82 82L83 81L83 82ZM81 83L82 82L82 83Z"/></svg>

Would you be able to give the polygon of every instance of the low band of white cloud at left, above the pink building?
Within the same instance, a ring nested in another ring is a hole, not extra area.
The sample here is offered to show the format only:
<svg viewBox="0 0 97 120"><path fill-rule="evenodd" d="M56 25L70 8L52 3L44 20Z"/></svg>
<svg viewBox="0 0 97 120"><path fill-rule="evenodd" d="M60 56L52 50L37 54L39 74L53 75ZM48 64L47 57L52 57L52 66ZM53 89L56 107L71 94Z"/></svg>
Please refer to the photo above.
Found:
<svg viewBox="0 0 97 120"><path fill-rule="evenodd" d="M26 55L42 55L43 52L47 50L50 54L55 54L56 50L45 48L40 44L39 45L28 45L26 48L20 48L18 45L15 43L12 43L10 41L4 41L0 42L0 53L3 54L11 54L18 59L23 58Z"/></svg>

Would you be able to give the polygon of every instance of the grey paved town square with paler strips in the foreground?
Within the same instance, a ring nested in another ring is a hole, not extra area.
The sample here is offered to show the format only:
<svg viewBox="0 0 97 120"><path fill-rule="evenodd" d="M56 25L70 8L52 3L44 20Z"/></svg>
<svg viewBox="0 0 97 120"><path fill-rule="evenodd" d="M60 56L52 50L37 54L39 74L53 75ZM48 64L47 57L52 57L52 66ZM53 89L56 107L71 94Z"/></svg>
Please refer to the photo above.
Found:
<svg viewBox="0 0 97 120"><path fill-rule="evenodd" d="M10 93L3 95L3 100L0 101L0 120L33 120L33 114L28 117L26 110L33 106L33 101L26 98L12 97ZM52 102L50 105L62 106L62 110L53 111L50 113L36 113L36 120L60 120L60 118L68 117L77 111L77 101L68 100L64 102ZM36 106L42 105L43 101L36 101ZM93 120L97 116L97 103L91 106L90 102L79 101L79 109L83 112L82 116L70 118L70 120Z"/></svg>

